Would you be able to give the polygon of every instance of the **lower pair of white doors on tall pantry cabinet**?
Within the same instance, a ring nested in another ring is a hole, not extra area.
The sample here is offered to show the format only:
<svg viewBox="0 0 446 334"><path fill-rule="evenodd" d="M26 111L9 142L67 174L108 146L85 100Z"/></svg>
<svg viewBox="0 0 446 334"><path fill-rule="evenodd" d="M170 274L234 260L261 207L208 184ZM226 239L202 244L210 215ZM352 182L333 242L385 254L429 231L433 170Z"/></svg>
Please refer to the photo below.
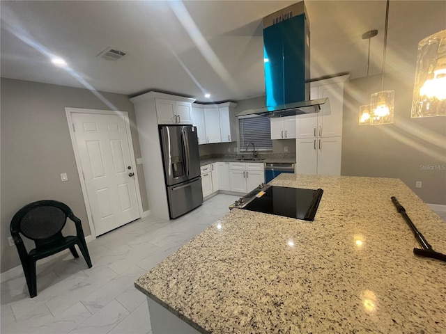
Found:
<svg viewBox="0 0 446 334"><path fill-rule="evenodd" d="M296 141L297 174L341 175L342 137Z"/></svg>

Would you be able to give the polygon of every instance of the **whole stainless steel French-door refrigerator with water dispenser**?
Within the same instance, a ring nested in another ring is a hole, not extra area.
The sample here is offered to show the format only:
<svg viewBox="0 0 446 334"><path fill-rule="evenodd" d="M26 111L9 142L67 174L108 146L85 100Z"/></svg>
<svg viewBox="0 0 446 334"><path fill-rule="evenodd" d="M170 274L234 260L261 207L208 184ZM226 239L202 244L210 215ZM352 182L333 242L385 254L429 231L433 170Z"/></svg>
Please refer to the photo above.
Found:
<svg viewBox="0 0 446 334"><path fill-rule="evenodd" d="M176 218L203 202L197 127L162 125L159 129L169 215Z"/></svg>

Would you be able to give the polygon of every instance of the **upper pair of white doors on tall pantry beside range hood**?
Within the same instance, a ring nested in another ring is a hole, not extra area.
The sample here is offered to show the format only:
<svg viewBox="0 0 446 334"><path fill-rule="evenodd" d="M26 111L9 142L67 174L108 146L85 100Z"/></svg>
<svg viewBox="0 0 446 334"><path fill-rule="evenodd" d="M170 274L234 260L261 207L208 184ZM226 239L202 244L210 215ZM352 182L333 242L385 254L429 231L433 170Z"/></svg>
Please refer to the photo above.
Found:
<svg viewBox="0 0 446 334"><path fill-rule="evenodd" d="M319 113L297 116L296 138L318 138L342 136L342 109L344 105L344 82L342 77L313 81L310 99L328 97Z"/></svg>

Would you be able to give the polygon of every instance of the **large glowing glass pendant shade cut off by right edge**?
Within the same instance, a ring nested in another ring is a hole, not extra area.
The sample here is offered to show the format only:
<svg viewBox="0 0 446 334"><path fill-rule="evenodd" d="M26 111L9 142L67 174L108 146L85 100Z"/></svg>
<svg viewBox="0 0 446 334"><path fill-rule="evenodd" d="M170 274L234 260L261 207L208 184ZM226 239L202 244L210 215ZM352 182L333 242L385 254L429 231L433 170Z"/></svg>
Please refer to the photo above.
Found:
<svg viewBox="0 0 446 334"><path fill-rule="evenodd" d="M411 116L446 116L446 30L418 43Z"/></svg>

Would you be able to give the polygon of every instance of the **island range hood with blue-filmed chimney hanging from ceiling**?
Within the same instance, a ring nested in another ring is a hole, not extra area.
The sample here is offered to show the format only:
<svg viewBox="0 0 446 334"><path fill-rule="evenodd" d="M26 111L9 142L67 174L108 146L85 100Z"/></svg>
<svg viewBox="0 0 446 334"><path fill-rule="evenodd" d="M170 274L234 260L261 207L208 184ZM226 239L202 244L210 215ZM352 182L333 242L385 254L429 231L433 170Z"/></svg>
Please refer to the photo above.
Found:
<svg viewBox="0 0 446 334"><path fill-rule="evenodd" d="M266 107L237 116L317 113L327 98L309 100L309 19L304 1L263 18Z"/></svg>

